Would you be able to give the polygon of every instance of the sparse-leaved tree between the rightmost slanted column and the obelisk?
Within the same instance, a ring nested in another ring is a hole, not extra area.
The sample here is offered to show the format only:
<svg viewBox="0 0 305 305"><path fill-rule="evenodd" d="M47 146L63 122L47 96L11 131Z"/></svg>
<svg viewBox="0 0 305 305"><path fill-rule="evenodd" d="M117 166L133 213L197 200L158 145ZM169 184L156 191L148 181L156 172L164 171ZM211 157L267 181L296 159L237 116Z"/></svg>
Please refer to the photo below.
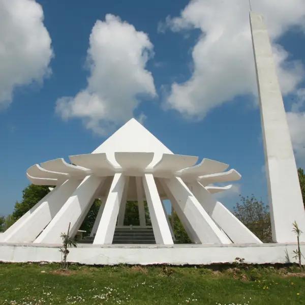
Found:
<svg viewBox="0 0 305 305"><path fill-rule="evenodd" d="M272 242L268 205L251 197L240 196L240 203L233 207L233 214L249 228L261 241Z"/></svg>

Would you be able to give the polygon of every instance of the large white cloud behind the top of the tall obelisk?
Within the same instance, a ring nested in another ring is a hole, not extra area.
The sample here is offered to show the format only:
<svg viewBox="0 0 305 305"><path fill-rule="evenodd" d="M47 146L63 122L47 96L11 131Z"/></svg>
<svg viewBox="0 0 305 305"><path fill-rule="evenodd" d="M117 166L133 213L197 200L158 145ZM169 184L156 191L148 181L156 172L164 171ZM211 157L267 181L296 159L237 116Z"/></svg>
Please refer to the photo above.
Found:
<svg viewBox="0 0 305 305"><path fill-rule="evenodd" d="M292 92L303 77L303 66L291 62L276 40L292 26L304 29L303 0L256 0L253 9L264 14L273 42L283 94ZM191 118L206 113L236 96L256 94L248 1L193 0L179 17L168 17L172 31L199 28L192 49L193 71L184 83L172 83L165 106ZM164 31L164 24L159 25Z"/></svg>

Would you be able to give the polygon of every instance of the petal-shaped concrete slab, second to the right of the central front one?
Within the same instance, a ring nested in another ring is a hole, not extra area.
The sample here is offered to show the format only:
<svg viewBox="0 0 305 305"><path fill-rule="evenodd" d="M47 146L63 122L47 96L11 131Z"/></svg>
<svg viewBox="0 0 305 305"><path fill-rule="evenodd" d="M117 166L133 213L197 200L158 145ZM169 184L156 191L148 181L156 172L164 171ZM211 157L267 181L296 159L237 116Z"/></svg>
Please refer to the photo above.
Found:
<svg viewBox="0 0 305 305"><path fill-rule="evenodd" d="M177 172L177 175L180 176L182 179L197 179L200 175L207 175L212 173L219 173L226 170L229 167L228 164L210 160L210 159L203 159L199 164L182 169Z"/></svg>

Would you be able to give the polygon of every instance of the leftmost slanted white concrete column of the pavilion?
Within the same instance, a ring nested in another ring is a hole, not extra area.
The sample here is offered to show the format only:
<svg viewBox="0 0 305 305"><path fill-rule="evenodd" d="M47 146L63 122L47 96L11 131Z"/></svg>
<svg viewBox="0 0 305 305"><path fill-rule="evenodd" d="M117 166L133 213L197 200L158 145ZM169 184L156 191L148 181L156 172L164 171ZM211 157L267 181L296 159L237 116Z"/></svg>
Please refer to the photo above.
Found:
<svg viewBox="0 0 305 305"><path fill-rule="evenodd" d="M2 241L32 242L53 219L79 184L79 180L69 179L53 189L3 234Z"/></svg>

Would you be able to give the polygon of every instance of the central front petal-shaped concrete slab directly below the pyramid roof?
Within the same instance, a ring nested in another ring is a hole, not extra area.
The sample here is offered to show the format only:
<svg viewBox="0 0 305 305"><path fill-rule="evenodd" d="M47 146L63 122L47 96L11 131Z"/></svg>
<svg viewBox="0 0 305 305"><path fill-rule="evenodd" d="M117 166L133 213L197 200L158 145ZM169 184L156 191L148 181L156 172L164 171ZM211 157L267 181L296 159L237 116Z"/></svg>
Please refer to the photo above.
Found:
<svg viewBox="0 0 305 305"><path fill-rule="evenodd" d="M153 161L154 153L115 153L115 160L121 166L122 170L135 175L137 172L143 173L148 164Z"/></svg>

